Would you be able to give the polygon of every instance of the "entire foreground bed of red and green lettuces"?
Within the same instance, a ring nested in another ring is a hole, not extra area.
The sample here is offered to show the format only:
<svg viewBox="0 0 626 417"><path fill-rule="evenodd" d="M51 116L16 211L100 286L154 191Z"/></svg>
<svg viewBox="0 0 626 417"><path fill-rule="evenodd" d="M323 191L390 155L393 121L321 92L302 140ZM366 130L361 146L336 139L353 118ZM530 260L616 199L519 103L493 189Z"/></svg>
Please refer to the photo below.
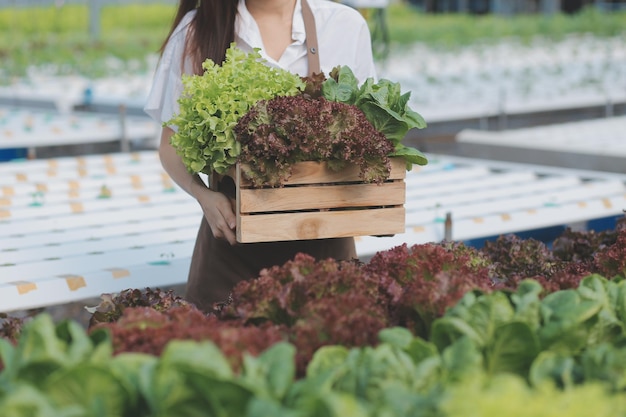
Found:
<svg viewBox="0 0 626 417"><path fill-rule="evenodd" d="M89 331L6 320L0 415L625 416L625 225L300 256L208 315L128 290Z"/></svg>

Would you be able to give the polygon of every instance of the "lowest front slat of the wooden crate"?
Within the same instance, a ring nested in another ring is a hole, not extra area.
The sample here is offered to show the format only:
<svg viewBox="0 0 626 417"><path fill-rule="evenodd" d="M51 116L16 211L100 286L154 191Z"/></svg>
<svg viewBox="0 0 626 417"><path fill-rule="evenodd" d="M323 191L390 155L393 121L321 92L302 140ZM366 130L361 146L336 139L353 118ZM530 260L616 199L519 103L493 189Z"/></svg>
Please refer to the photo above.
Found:
<svg viewBox="0 0 626 417"><path fill-rule="evenodd" d="M403 232L404 207L242 215L237 218L237 240L241 243Z"/></svg>

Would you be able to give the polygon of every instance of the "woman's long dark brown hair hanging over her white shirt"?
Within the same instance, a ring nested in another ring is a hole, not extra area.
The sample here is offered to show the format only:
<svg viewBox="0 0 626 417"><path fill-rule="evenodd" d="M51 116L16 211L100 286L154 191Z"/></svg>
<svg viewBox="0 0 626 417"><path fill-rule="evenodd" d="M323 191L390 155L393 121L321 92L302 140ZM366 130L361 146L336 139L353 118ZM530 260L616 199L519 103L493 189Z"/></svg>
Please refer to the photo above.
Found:
<svg viewBox="0 0 626 417"><path fill-rule="evenodd" d="M221 64L224 62L226 49L235 40L238 3L238 0L180 0L170 32L159 51L163 53L167 41L183 17L189 11L197 9L185 43L185 55L191 57L196 74L202 73L202 63L207 58Z"/></svg>

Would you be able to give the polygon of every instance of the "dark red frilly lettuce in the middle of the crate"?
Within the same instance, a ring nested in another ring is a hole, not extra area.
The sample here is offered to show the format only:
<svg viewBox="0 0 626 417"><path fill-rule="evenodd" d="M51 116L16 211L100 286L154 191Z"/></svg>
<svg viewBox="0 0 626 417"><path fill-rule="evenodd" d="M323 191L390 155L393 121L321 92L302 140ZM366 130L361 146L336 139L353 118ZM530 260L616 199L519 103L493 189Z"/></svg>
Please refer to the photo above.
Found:
<svg viewBox="0 0 626 417"><path fill-rule="evenodd" d="M238 162L257 187L280 186L291 166L326 161L339 170L360 167L365 182L382 182L391 169L393 144L354 106L303 95L262 100L235 127L241 143Z"/></svg>

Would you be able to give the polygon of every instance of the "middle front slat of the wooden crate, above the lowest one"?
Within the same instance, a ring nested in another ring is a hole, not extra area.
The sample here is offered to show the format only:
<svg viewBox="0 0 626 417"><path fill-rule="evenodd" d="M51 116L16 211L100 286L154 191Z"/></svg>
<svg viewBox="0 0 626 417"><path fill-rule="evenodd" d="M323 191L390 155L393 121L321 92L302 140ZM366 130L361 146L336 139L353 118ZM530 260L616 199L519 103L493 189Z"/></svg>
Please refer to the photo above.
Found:
<svg viewBox="0 0 626 417"><path fill-rule="evenodd" d="M239 212L395 206L404 204L403 181L383 184L322 185L239 191Z"/></svg>

